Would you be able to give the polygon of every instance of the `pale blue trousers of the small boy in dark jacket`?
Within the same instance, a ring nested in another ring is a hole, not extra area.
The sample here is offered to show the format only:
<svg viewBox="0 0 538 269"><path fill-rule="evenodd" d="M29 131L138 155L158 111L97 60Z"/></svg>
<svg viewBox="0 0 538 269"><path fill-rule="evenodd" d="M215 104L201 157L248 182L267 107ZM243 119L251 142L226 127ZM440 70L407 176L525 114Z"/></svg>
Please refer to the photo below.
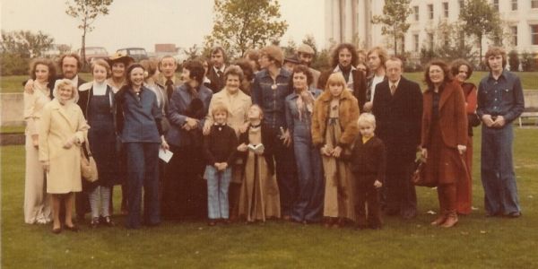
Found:
<svg viewBox="0 0 538 269"><path fill-rule="evenodd" d="M230 187L231 168L217 170L213 165L205 167L207 179L207 216L209 219L228 219L228 187Z"/></svg>

